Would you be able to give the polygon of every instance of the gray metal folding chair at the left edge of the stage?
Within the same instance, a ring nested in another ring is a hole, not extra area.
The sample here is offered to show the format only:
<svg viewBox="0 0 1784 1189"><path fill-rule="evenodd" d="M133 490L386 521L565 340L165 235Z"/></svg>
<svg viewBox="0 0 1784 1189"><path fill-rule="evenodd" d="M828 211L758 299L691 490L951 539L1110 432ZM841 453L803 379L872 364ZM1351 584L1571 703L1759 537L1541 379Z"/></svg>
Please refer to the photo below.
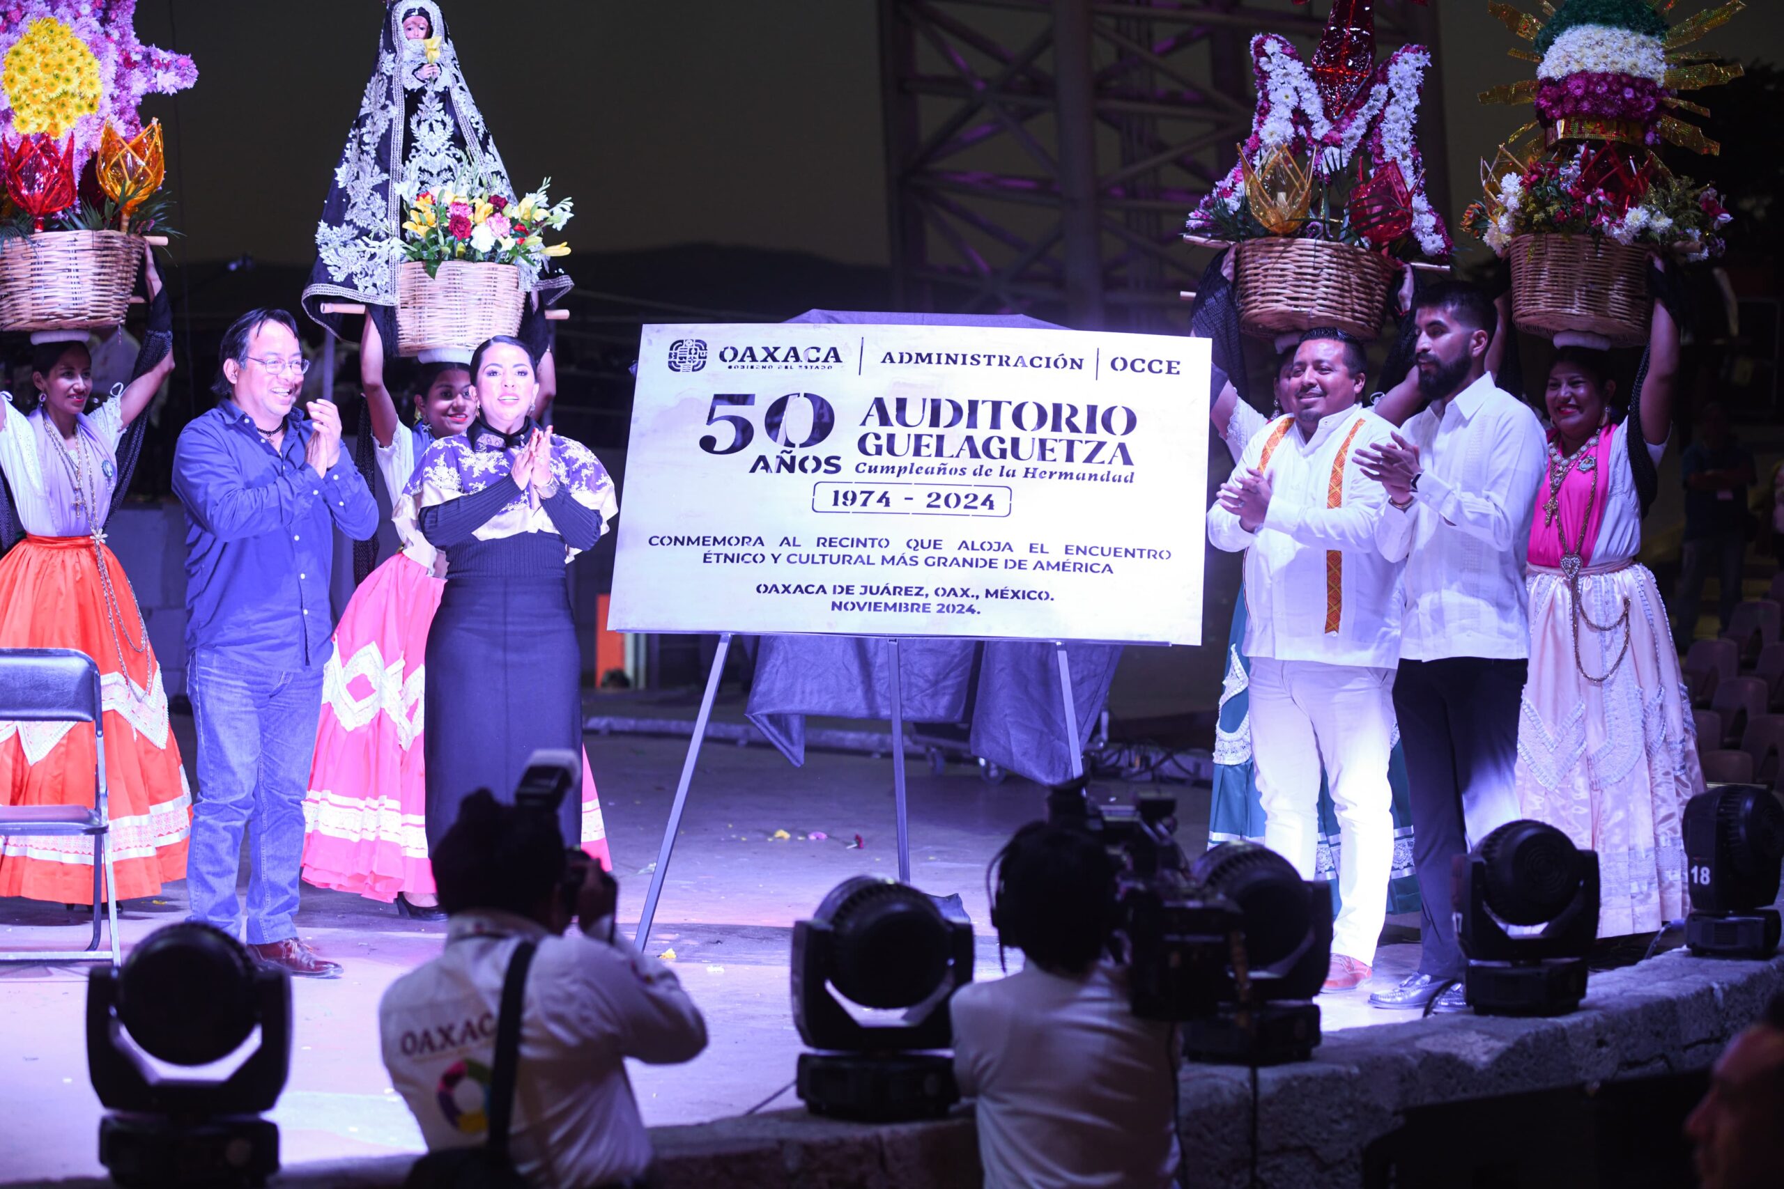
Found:
<svg viewBox="0 0 1784 1189"><path fill-rule="evenodd" d="M0 720L91 722L93 808L11 806L0 808L0 838L93 838L93 941L84 950L0 950L0 963L100 961L100 900L111 916L111 961L123 959L118 947L118 881L112 872L111 804L105 795L105 722L100 709L100 668L73 649L0 649ZM103 866L102 866L103 863Z"/></svg>

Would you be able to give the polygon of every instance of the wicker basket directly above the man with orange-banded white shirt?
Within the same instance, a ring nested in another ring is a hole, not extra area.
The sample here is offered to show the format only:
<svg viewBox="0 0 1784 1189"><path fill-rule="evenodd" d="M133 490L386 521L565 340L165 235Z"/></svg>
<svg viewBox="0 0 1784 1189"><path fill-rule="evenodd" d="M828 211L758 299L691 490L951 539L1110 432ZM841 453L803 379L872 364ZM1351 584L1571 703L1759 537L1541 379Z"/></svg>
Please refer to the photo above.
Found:
<svg viewBox="0 0 1784 1189"><path fill-rule="evenodd" d="M1247 239L1235 269L1238 323L1263 337L1336 326L1374 339L1393 275L1386 257L1329 239Z"/></svg>

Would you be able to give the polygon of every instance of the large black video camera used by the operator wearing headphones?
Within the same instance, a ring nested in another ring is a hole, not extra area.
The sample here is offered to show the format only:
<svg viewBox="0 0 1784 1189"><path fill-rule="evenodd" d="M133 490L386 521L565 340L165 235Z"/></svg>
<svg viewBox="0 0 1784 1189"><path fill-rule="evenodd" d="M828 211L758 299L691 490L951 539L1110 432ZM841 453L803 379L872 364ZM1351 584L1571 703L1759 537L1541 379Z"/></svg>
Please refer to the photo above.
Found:
<svg viewBox="0 0 1784 1189"><path fill-rule="evenodd" d="M1131 804L1097 806L1085 781L1047 795L1047 820L1099 838L1115 859L1111 954L1127 964L1129 1005L1142 1020L1211 1016L1229 984L1243 929L1238 907L1190 877L1176 841L1177 799L1136 791Z"/></svg>

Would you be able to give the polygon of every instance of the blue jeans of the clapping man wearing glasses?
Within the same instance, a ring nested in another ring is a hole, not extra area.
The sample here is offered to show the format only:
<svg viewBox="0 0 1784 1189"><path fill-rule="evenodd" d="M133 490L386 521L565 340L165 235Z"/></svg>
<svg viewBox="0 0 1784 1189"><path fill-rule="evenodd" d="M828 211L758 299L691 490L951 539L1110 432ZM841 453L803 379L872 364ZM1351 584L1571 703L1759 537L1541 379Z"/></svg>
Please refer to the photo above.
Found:
<svg viewBox="0 0 1784 1189"><path fill-rule="evenodd" d="M235 936L235 877L248 832L248 943L298 936L303 793L323 704L323 668L278 670L194 649L186 670L198 729L198 804L186 861L189 920Z"/></svg>

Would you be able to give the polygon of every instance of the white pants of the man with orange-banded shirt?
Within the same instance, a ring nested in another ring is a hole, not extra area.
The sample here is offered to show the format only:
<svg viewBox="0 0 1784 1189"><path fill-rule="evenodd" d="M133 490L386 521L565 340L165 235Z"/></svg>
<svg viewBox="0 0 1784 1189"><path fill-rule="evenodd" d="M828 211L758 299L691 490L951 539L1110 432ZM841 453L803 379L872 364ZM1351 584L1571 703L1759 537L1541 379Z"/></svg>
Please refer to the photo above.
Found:
<svg viewBox="0 0 1784 1189"><path fill-rule="evenodd" d="M1318 661L1251 663L1251 754L1263 841L1315 877L1320 768L1338 811L1333 954L1374 964L1393 868L1393 670Z"/></svg>

